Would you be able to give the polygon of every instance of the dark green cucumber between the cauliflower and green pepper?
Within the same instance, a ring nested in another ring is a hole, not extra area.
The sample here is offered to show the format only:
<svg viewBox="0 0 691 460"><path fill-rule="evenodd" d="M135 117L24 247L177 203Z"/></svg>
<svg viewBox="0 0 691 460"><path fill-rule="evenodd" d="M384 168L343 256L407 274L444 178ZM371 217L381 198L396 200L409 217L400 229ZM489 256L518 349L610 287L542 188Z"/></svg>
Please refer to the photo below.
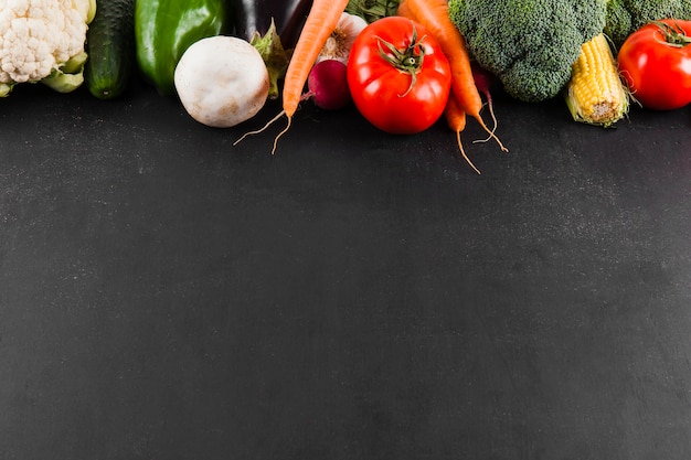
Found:
<svg viewBox="0 0 691 460"><path fill-rule="evenodd" d="M99 99L119 97L136 68L135 0L98 0L86 32L84 81Z"/></svg>

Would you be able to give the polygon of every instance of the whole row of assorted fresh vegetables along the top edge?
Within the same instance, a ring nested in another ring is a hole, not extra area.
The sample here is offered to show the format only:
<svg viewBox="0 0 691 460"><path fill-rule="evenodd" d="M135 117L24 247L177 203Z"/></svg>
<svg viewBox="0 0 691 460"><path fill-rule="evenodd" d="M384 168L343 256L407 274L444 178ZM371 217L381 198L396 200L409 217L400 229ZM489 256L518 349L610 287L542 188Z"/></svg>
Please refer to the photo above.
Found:
<svg viewBox="0 0 691 460"><path fill-rule="evenodd" d="M273 151L306 101L353 105L391 135L444 119L478 173L468 118L508 151L493 85L529 104L563 97L574 120L610 127L631 104L689 105L690 62L688 0L0 0L0 96L84 84L113 99L142 78L216 128L280 99L245 135L285 118Z"/></svg>

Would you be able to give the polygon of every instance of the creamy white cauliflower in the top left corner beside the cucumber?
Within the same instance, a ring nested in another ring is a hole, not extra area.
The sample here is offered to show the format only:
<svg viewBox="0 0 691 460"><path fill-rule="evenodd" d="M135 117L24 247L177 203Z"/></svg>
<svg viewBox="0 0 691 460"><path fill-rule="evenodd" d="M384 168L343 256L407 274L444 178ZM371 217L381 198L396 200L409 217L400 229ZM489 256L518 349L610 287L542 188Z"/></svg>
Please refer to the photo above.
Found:
<svg viewBox="0 0 691 460"><path fill-rule="evenodd" d="M25 82L76 89L95 11L95 0L0 0L0 96Z"/></svg>

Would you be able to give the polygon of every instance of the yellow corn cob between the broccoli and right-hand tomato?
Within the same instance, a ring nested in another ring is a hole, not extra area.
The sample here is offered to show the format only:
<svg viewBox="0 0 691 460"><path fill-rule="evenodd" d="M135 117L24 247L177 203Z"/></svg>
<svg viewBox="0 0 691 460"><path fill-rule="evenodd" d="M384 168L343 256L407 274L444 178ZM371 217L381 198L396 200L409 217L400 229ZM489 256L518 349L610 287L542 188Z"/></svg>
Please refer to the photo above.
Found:
<svg viewBox="0 0 691 460"><path fill-rule="evenodd" d="M566 87L566 105L574 120L591 125L609 127L626 116L629 94L604 34L581 46Z"/></svg>

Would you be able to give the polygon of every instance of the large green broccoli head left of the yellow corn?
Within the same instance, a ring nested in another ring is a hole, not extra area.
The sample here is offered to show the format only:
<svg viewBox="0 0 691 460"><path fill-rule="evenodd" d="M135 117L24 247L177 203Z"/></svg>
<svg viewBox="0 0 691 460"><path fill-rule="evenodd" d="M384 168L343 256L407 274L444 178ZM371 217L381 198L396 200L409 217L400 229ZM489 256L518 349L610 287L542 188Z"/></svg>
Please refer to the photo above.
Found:
<svg viewBox="0 0 691 460"><path fill-rule="evenodd" d="M529 103L560 94L606 18L606 0L449 0L448 9L478 64Z"/></svg>

